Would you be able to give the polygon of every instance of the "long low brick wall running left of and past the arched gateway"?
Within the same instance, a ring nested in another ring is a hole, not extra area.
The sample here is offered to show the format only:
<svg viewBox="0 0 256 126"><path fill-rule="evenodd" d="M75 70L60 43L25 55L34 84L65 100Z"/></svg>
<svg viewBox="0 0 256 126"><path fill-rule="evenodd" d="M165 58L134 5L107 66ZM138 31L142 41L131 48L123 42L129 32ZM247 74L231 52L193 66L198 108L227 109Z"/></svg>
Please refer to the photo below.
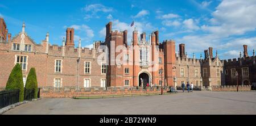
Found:
<svg viewBox="0 0 256 126"><path fill-rule="evenodd" d="M163 93L170 91L170 87L163 87ZM73 96L110 96L110 95L131 95L131 94L161 93L160 87L41 87L40 97L42 98L73 98Z"/></svg>

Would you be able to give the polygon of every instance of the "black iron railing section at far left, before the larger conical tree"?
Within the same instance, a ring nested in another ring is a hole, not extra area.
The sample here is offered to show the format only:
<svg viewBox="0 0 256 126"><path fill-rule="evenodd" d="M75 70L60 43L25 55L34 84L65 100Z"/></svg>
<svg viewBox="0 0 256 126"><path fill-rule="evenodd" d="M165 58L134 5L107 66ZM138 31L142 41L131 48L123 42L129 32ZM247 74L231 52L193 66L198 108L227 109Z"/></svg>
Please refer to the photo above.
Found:
<svg viewBox="0 0 256 126"><path fill-rule="evenodd" d="M19 102L19 90L0 91L0 108Z"/></svg>

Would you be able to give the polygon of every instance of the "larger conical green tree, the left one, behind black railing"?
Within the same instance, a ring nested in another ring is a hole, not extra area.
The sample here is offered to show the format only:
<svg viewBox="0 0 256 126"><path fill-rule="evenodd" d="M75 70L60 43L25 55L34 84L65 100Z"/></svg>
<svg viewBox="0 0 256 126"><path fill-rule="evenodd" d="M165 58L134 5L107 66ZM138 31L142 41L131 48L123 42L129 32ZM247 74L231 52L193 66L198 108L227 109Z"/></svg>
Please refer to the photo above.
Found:
<svg viewBox="0 0 256 126"><path fill-rule="evenodd" d="M24 83L23 83L22 68L20 64L16 64L14 66L5 87L5 90L18 90L18 89L19 89L19 102L22 102L24 99Z"/></svg>

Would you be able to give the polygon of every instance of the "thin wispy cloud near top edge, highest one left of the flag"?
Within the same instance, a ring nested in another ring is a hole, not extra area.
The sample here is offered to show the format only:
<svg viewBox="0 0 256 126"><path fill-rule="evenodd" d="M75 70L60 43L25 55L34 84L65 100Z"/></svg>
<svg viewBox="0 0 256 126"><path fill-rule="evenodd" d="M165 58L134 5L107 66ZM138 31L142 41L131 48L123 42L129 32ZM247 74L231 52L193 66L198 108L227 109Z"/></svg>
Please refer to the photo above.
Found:
<svg viewBox="0 0 256 126"><path fill-rule="evenodd" d="M111 7L106 7L104 5L101 5L101 4L93 4L93 5L86 5L84 7L84 10L85 11L91 11L93 13L96 13L96 12L112 12L113 9Z"/></svg>

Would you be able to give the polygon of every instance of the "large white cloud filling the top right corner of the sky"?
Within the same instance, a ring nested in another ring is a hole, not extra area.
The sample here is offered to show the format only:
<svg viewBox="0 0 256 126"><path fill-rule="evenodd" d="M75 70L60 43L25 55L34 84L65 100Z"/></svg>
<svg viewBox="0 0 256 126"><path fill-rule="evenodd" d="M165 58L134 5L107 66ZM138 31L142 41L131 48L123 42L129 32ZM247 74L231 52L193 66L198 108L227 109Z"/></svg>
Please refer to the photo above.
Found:
<svg viewBox="0 0 256 126"><path fill-rule="evenodd" d="M229 37L255 31L256 1L224 0L216 7L210 19L212 26L203 26L203 30Z"/></svg>

